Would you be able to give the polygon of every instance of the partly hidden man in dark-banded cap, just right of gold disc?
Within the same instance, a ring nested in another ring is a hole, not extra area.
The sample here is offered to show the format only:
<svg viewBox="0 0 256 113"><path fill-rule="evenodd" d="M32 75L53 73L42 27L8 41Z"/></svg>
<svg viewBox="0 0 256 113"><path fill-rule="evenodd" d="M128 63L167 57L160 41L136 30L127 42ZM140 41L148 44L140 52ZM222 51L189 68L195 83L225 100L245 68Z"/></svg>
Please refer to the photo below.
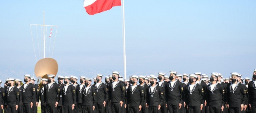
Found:
<svg viewBox="0 0 256 113"><path fill-rule="evenodd" d="M60 88L60 93L62 93L63 87L65 86L65 84L63 84L63 76L57 76L58 77L58 84L59 84L59 88ZM58 103L58 107L57 107L57 113L63 113L63 102L62 102L62 95L60 95L59 98L59 103Z"/></svg>

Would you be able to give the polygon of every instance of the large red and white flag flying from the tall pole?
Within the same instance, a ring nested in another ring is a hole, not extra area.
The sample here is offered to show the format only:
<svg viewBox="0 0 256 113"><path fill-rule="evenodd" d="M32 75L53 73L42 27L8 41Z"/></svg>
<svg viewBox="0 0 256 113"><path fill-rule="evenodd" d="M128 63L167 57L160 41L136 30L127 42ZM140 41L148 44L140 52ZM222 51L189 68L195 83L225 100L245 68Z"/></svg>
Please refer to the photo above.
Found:
<svg viewBox="0 0 256 113"><path fill-rule="evenodd" d="M84 0L83 6L89 15L94 15L120 5L121 0Z"/></svg>

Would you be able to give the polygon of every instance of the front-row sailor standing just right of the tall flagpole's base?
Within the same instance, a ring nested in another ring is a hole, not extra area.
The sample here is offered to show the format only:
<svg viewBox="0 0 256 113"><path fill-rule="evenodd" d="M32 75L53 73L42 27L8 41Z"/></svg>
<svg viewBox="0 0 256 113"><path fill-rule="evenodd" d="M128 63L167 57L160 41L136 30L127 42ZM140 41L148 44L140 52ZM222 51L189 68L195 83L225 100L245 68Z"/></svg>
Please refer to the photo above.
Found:
<svg viewBox="0 0 256 113"><path fill-rule="evenodd" d="M140 113L144 105L144 90L142 86L137 84L138 76L132 76L132 86L127 89L127 104L130 113Z"/></svg>

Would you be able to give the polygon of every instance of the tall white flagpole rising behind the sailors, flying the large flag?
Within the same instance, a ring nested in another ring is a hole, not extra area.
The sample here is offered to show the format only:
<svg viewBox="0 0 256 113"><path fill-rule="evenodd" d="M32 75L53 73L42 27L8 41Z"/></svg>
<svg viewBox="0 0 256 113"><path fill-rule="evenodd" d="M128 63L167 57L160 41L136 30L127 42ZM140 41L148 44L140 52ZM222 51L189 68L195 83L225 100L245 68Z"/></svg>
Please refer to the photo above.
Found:
<svg viewBox="0 0 256 113"><path fill-rule="evenodd" d="M123 0L123 65L124 65L124 78L126 79L126 52L125 52L124 0Z"/></svg>

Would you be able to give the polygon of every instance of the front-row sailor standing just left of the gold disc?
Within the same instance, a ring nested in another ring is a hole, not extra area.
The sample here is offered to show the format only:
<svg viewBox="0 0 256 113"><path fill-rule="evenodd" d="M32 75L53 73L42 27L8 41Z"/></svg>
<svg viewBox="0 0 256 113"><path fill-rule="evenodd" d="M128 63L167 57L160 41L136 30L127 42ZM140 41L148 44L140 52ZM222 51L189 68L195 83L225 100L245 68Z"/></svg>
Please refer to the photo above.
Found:
<svg viewBox="0 0 256 113"><path fill-rule="evenodd" d="M30 82L31 75L24 75L25 84L22 85L22 104L25 113L33 113L33 103L36 99L35 85Z"/></svg>

